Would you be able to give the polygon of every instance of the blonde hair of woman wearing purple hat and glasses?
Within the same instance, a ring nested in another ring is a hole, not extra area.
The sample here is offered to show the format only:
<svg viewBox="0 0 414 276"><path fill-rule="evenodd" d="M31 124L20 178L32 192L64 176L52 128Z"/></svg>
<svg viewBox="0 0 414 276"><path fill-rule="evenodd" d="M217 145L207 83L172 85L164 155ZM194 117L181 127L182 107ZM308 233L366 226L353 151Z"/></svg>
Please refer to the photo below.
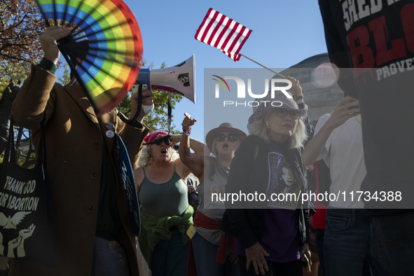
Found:
<svg viewBox="0 0 414 276"><path fill-rule="evenodd" d="M263 118L258 120L256 123L247 125L247 129L249 130L250 135L256 135L258 137L261 137L265 140L266 143L270 143L271 139L268 127L266 127L265 125L265 116L263 116ZM303 147L306 138L308 138L308 135L306 134L305 123L303 123L303 120L299 118L296 131L291 137L288 137L287 139L289 149L299 149Z"/></svg>

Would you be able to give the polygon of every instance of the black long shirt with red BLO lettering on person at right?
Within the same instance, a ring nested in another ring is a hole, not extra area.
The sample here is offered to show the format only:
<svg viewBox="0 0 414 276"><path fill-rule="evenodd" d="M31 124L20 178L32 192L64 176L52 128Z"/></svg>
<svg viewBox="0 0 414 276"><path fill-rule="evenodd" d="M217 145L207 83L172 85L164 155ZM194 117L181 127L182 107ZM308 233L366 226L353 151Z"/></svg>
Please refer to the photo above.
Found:
<svg viewBox="0 0 414 276"><path fill-rule="evenodd" d="M340 69L338 84L361 106L366 164L361 191L413 194L414 129L407 125L414 115L414 0L319 0L319 6L329 57ZM364 204L413 208L409 196L367 198Z"/></svg>

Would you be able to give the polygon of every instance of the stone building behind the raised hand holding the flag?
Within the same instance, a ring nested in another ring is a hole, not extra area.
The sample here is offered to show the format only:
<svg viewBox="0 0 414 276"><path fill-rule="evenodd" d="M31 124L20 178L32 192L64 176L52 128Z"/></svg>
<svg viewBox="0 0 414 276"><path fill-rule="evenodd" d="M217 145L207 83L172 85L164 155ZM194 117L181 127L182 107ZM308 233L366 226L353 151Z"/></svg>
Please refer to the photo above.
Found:
<svg viewBox="0 0 414 276"><path fill-rule="evenodd" d="M328 53L324 53L309 57L280 72L283 76L292 76L301 82L303 97L308 104L308 115L314 127L317 120L325 113L331 113L343 98L333 70L335 68L330 64Z"/></svg>

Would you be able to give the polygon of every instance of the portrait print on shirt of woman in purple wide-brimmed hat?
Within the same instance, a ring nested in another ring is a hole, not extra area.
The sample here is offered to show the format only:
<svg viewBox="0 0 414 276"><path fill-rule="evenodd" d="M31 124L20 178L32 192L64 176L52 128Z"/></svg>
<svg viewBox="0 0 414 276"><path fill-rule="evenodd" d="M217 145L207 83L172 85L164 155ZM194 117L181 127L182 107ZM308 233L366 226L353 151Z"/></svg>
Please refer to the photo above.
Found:
<svg viewBox="0 0 414 276"><path fill-rule="evenodd" d="M302 189L299 175L280 153L269 153L268 207L296 209Z"/></svg>

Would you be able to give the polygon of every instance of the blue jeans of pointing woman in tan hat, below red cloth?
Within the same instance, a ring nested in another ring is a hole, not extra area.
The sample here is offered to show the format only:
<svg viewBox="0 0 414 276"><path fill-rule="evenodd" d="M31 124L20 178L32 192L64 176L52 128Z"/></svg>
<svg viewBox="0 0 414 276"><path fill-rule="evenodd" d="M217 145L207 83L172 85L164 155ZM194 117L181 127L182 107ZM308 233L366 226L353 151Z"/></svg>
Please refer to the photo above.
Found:
<svg viewBox="0 0 414 276"><path fill-rule="evenodd" d="M224 263L224 265L216 262L219 245L209 242L199 233L194 234L191 242L193 243L193 254L197 276L240 275L239 264L230 263L230 258L226 258L226 263Z"/></svg>

